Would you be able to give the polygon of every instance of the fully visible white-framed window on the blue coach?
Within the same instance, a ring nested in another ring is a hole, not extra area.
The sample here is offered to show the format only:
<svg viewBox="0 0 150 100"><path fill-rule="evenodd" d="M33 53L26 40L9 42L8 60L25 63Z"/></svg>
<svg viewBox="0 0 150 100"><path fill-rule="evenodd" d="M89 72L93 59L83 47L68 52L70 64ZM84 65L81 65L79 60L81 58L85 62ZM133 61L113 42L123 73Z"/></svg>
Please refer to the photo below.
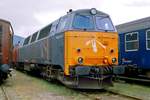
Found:
<svg viewBox="0 0 150 100"><path fill-rule="evenodd" d="M138 32L125 34L125 51L137 51L139 48Z"/></svg>

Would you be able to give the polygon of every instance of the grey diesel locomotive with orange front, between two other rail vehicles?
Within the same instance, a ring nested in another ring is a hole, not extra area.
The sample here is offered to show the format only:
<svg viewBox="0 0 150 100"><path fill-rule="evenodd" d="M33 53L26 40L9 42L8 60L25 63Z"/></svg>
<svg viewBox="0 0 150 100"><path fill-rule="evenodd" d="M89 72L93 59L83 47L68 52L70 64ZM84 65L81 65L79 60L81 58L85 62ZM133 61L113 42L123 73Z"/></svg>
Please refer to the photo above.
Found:
<svg viewBox="0 0 150 100"><path fill-rule="evenodd" d="M65 16L28 36L14 49L17 69L57 79L71 88L112 86L118 64L118 34L108 14L69 10Z"/></svg>

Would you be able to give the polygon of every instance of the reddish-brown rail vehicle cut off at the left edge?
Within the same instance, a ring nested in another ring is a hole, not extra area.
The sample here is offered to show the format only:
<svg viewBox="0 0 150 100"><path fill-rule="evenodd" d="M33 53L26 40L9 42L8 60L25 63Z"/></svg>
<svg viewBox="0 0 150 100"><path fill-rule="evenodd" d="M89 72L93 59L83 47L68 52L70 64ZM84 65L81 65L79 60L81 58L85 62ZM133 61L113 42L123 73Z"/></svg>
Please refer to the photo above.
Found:
<svg viewBox="0 0 150 100"><path fill-rule="evenodd" d="M13 28L10 22L0 19L0 83L8 77L12 63Z"/></svg>

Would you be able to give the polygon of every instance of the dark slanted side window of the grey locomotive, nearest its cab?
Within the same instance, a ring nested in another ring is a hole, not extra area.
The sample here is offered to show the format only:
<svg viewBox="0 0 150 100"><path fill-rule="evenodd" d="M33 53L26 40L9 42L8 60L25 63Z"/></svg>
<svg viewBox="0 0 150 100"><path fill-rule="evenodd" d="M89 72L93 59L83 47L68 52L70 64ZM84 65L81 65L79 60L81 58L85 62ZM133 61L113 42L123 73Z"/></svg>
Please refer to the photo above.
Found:
<svg viewBox="0 0 150 100"><path fill-rule="evenodd" d="M42 38L44 38L44 37L46 37L46 36L48 36L48 34L49 34L50 30L51 30L51 26L52 26L52 25L50 24L50 25L46 26L45 28L43 28L43 29L40 31L38 40L39 40L39 39L42 39Z"/></svg>

